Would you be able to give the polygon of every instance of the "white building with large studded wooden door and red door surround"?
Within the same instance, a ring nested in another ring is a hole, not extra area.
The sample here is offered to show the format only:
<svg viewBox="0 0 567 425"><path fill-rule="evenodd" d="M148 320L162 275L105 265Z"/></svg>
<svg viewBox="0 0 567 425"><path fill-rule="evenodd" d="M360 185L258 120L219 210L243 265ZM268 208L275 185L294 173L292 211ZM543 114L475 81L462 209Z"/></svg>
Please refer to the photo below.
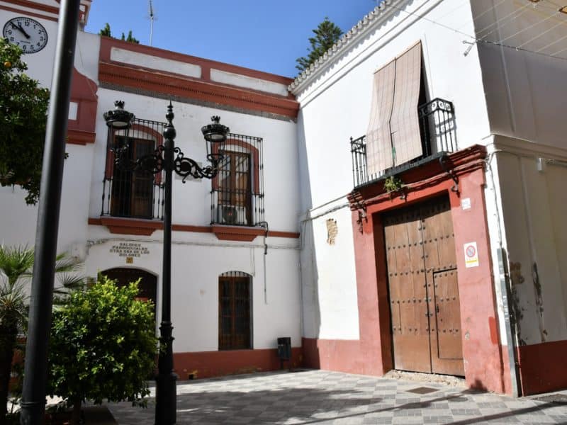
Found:
<svg viewBox="0 0 567 425"><path fill-rule="evenodd" d="M290 86L305 364L565 387L565 8L455 3L383 1Z"/></svg>

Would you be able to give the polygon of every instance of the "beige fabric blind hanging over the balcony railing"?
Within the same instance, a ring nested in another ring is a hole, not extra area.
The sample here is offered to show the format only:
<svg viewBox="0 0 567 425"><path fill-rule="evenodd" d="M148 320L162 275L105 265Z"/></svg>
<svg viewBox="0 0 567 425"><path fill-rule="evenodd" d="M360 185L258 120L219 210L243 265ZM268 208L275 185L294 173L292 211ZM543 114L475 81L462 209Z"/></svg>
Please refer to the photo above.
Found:
<svg viewBox="0 0 567 425"><path fill-rule="evenodd" d="M423 154L417 103L421 82L421 42L374 74L374 93L366 132L370 175Z"/></svg>

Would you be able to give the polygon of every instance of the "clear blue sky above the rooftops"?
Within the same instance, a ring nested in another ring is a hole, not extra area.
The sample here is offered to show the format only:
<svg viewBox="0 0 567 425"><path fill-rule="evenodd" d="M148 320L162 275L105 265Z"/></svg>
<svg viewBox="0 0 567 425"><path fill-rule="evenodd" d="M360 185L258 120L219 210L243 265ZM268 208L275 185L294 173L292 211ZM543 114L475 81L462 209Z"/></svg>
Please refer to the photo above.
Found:
<svg viewBox="0 0 567 425"><path fill-rule="evenodd" d="M153 0L152 45L174 52L296 77L312 30L328 16L347 31L376 0ZM86 31L109 23L114 37L133 31L150 44L148 0L94 0Z"/></svg>

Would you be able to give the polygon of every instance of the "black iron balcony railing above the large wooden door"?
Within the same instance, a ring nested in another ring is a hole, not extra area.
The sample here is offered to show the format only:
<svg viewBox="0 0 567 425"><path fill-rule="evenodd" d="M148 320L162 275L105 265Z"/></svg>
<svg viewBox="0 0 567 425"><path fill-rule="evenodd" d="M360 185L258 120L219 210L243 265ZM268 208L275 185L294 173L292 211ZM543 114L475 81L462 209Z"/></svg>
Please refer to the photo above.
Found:
<svg viewBox="0 0 567 425"><path fill-rule="evenodd" d="M357 139L352 139L351 137L352 178L355 188L431 162L458 149L453 103L441 98L435 98L418 106L417 109L423 154L410 162L405 162L376 173L369 173L369 167L366 162L366 135ZM394 149L392 154L395 156Z"/></svg>

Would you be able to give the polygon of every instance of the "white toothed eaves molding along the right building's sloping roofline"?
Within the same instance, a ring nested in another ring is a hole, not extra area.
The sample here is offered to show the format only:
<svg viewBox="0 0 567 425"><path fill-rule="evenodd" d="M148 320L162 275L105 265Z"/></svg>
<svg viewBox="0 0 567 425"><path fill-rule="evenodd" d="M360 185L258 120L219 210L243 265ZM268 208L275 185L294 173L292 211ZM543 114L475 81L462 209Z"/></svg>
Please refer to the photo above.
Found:
<svg viewBox="0 0 567 425"><path fill-rule="evenodd" d="M335 43L324 55L313 64L299 74L288 86L288 90L292 94L297 95L308 82L312 81L315 77L325 72L327 66L330 65L332 60L342 55L349 47L354 45L355 42L364 38L366 33L376 28L381 23L388 21L394 13L398 12L400 7L405 6L412 2L412 0L383 0L381 4L376 6L373 11L366 14L355 26L353 26L347 33L344 33L339 41ZM393 5L395 7L388 7Z"/></svg>

